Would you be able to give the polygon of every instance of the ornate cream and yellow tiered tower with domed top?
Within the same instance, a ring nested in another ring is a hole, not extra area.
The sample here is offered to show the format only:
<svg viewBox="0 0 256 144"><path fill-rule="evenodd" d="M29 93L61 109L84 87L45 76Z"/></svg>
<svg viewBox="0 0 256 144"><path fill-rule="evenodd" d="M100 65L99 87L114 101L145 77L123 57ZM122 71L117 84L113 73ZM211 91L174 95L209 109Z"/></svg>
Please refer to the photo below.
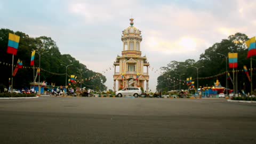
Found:
<svg viewBox="0 0 256 144"><path fill-rule="evenodd" d="M130 26L122 31L122 55L117 55L116 61L114 62L114 91L116 91L116 82L118 82L117 90L134 86L143 87L148 92L149 62L146 56L141 57L141 31L133 26L133 20L131 18ZM119 66L119 72L116 72L117 66ZM146 67L147 71L143 71L144 67Z"/></svg>

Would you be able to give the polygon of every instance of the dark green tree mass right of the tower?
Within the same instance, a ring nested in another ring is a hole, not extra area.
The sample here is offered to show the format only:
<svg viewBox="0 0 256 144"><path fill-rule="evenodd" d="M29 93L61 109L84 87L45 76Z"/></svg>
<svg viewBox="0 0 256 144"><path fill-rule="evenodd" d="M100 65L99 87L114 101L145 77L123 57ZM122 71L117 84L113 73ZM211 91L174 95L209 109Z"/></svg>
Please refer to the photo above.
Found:
<svg viewBox="0 0 256 144"><path fill-rule="evenodd" d="M244 44L249 38L242 33L236 33L235 35L230 35L227 39L222 39L219 43L214 43L208 49L205 50L199 57L198 61L195 60L186 60L185 62L171 61L167 67L161 67L163 71L162 75L157 78L157 90L170 90L170 80L168 81L168 76L174 77L175 73L184 73L186 77L196 78L196 70L191 66L204 66L199 70L199 77L209 77L214 76L226 71L226 60L221 55L228 55L229 52L238 53L238 69L243 69L244 65L249 66L250 60L246 59L247 49ZM253 60L253 63L256 63L256 60ZM230 69L228 69L230 70ZM254 77L254 76L253 76ZM173 79L173 78L172 78ZM213 85L213 83L219 79L223 86L225 86L226 76L221 75L214 78L205 78L200 79L199 84L202 86ZM246 86L248 83L246 76L243 73L238 73L238 89L250 89L250 86ZM245 83L245 86L244 86ZM253 82L255 84L255 82ZM183 84L182 84L183 85ZM231 83L229 82L229 87ZM186 88L186 85L183 85L182 88ZM233 87L230 87L233 89Z"/></svg>

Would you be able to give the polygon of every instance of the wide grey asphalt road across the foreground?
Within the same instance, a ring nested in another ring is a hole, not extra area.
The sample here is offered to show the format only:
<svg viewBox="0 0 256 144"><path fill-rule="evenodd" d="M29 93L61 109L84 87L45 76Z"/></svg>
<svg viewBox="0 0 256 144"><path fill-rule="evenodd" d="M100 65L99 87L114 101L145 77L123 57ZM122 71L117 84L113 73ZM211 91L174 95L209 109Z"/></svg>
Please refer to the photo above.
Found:
<svg viewBox="0 0 256 144"><path fill-rule="evenodd" d="M256 105L225 99L0 100L0 143L256 143Z"/></svg>

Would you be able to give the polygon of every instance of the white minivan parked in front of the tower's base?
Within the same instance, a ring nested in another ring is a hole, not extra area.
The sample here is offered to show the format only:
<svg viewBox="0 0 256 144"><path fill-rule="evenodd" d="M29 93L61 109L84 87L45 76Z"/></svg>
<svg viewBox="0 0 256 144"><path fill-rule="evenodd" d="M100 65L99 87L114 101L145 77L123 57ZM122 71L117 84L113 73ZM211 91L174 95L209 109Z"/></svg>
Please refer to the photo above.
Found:
<svg viewBox="0 0 256 144"><path fill-rule="evenodd" d="M117 97L134 96L138 97L141 95L140 87L125 87L123 90L116 91Z"/></svg>

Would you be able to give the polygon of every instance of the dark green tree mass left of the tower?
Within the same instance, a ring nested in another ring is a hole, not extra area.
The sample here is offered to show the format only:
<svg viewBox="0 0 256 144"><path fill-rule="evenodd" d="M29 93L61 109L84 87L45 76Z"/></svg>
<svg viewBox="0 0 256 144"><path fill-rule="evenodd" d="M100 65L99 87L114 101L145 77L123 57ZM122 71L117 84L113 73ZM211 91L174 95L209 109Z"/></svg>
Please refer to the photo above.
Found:
<svg viewBox="0 0 256 144"><path fill-rule="evenodd" d="M33 69L30 68L31 51L36 50L37 52L46 52L41 55L41 82L46 81L48 84L54 83L56 86L65 85L66 68L62 65L71 65L68 67L68 76L71 74L78 75L77 70L82 69L85 71L82 78L89 79L90 81L83 81L83 86L90 85L90 89L93 89L95 85L99 86L100 90L106 90L107 87L103 84L106 82L106 77L100 73L95 73L92 70L86 68L85 65L79 63L78 60L71 57L70 54L61 54L59 47L51 37L40 36L40 37L29 37L27 34L21 31L12 31L10 29L0 29L0 57L1 63L1 81L0 85L9 85L9 78L11 77L11 63L12 55L7 54L7 44L9 33L20 36L19 49L17 55L14 57L14 65L18 59L23 61L23 69L20 69L17 75L14 77L13 87L15 89L22 89L30 87L29 83L33 82ZM5 65L3 65L5 63ZM9 63L6 65L6 63ZM35 55L35 67L39 66L38 54ZM47 71L44 71L47 70ZM97 76L96 76L97 75ZM93 78L92 78L93 77Z"/></svg>

